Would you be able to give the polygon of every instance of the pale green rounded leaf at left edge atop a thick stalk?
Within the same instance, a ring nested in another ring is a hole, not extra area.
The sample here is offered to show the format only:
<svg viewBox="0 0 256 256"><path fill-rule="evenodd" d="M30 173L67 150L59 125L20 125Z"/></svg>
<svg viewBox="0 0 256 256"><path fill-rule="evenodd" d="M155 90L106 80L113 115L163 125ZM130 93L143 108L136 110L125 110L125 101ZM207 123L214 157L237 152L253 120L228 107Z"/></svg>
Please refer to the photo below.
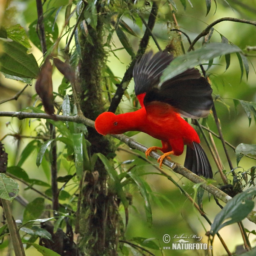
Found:
<svg viewBox="0 0 256 256"><path fill-rule="evenodd" d="M9 196L11 192L15 194L12 197ZM18 192L19 184L4 173L0 173L0 198L12 201L18 195Z"/></svg>

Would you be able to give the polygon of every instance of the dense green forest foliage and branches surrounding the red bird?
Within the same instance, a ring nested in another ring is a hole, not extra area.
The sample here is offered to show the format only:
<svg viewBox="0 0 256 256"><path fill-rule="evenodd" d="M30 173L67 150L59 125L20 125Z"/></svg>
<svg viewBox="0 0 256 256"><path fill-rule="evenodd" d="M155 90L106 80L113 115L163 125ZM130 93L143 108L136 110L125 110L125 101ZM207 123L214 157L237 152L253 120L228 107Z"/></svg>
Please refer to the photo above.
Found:
<svg viewBox="0 0 256 256"><path fill-rule="evenodd" d="M255 4L0 3L1 255L254 255ZM197 67L212 85L210 115L187 121L213 180L184 154L160 169L145 134L94 129L140 108L132 71L149 49L177 57L161 82ZM168 249L179 238L207 249Z"/></svg>

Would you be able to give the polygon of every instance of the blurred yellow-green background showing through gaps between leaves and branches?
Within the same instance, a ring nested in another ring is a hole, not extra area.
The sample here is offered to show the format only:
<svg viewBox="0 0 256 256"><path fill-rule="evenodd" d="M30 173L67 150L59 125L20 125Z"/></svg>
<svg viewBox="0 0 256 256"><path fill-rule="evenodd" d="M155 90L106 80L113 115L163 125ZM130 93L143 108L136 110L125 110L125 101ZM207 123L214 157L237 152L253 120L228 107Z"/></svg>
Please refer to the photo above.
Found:
<svg viewBox="0 0 256 256"><path fill-rule="evenodd" d="M193 40L196 35L198 35L202 30L205 29L207 24L212 23L214 20L217 20L221 17L237 17L240 19L248 19L255 20L256 17L256 1L255 0L244 0L244 1L228 1L232 8L226 3L226 1L217 1L217 9L215 12L215 3L212 2L212 8L209 14L206 16L206 5L203 0L192 1L191 3L193 7L186 2L186 10L184 10L180 1L174 1L177 6L177 10L175 10L175 16L177 18L178 25L180 29L185 32L189 37ZM238 3L240 2L240 3ZM56 5L58 2L55 3ZM63 4L63 3L61 3ZM249 6L246 7L241 6L242 4ZM150 9L145 12L149 12ZM62 15L64 12L61 11ZM35 11L35 1L27 0L27 1L11 1L8 15L13 15L12 20L15 20L16 23L20 23L25 29L28 29L28 23L32 20L36 19L36 11ZM61 16L60 16L61 17ZM137 50L140 38L143 35L143 31L134 24L129 19L124 19L125 22L134 30L138 37L129 36L129 40L132 44L132 47ZM162 1L160 3L160 13L159 18L157 19L157 23L154 27L153 33L157 36L157 40L162 48L169 43L172 39L173 33L169 32L167 28L167 21L172 22L172 10L170 6ZM57 22L59 23L59 27L61 27L61 18L58 18ZM143 26L143 30L144 30ZM241 49L245 49L247 46L255 46L256 45L256 27L248 24L242 23L234 23L229 21L224 21L214 26L214 33L211 38L211 42L220 42L221 36L224 35L230 42L239 46ZM189 44L184 36L182 36L183 43L185 49L188 49ZM114 47L122 48L122 44L119 42L117 37L114 38ZM201 40L196 44L195 48L201 47ZM157 48L153 42L150 41L149 49L154 49L157 51ZM31 52L35 55L35 58L38 60L38 63L41 63L42 56L41 52L33 46ZM252 55L251 52L248 52L249 55ZM113 71L114 75L122 78L128 64L131 61L130 55L125 51L125 49L120 49L115 51L114 56L112 53L108 56L108 65ZM118 57L118 58L116 58ZM221 122L221 128L224 134L225 140L230 142L232 145L237 146L239 143L256 143L256 126L255 122L252 120L251 125L249 126L248 118L241 108L238 106L237 112L235 111L235 107L233 104L233 99L242 99L245 101L256 101L256 73L253 66L256 66L256 58L249 57L249 65L250 72L248 76L248 80L246 79L246 75L244 75L241 79L241 69L239 66L239 61L235 54L231 55L231 64L227 71L225 71L225 59L222 56L220 59L215 58L214 65L207 71L211 75L209 76L212 83L213 89L213 98L219 96L220 99L215 101L217 113L219 120ZM207 67L205 65L204 67ZM58 90L59 84L61 84L62 77L58 72L54 73L53 76L53 86L54 90ZM0 76L0 101L3 99L8 99L13 96L18 90L22 89L24 86L23 83L19 81L13 81L9 79L5 79L2 75ZM134 91L134 83L133 81L128 87L128 93L130 95L133 94ZM19 111L22 108L25 108L28 105L33 104L32 96L35 94L35 87L32 85L31 87L25 90L22 96L17 101L6 102L0 105L0 111ZM129 112L134 111L133 104L131 99L127 99L125 96L123 97L123 102L120 104L120 112ZM212 114L208 117L208 124L212 131L218 133L217 128L215 127L215 122ZM16 132L21 132L26 136L35 136L33 134L33 130L38 125L36 120L18 120L16 118L0 118L0 138L3 138L6 134L12 134ZM139 133L133 137L139 143L149 147L153 145L160 145L160 141L155 140L154 138L148 136L147 134ZM203 138L202 145L209 156L210 162L212 164L213 173L218 171L215 166L212 157L210 156L209 150L204 143ZM218 148L218 152L220 154L221 160L227 170L229 172L229 166L227 163L227 159L225 157L223 148L221 146L220 140L214 138L215 143ZM22 138L20 143L17 143L12 136L7 136L3 139L3 143L6 148L6 152L9 155L9 166L15 165L20 158L20 153L22 152L25 145L30 141L30 139ZM61 144L58 145L61 148ZM236 157L235 153L232 149L228 148L230 153L230 157L232 159L233 165L236 166ZM135 159L131 154L128 154L124 151L117 151L116 159L119 162L123 162L125 160ZM143 155L143 154L142 154ZM49 181L45 175L45 172L42 170L42 167L39 168L35 164L37 153L34 152L32 157L26 160L23 169L29 174L30 178L38 178L40 180ZM185 154L183 153L180 157L172 157L172 160L183 164ZM151 159L152 160L152 159ZM123 164L123 168L128 169L131 165L137 164L136 168L141 172L156 172L153 166L145 165L145 162L140 159L136 159L131 164ZM157 165L157 163L155 162ZM256 161L243 157L241 162L239 163L241 169L239 170L247 170L252 166L256 166ZM180 175L176 175L169 169L164 170L171 175L183 188L189 192L189 194L194 196L193 184L186 180L186 178L181 177ZM239 171L238 170L238 171ZM62 168L61 173L63 175L67 175L67 172L64 168ZM145 210L143 207L143 198L137 192L135 187L131 186L130 192L133 196L133 205L129 208L129 224L126 231L126 239L132 239L134 237L143 237L145 239L155 238L153 241L157 244L160 244L160 247L168 246L171 244L163 243L163 235L169 234L171 238L175 235L180 236L182 234L185 235L200 235L203 236L201 242L207 243L207 236L205 236L206 231L210 230L209 224L201 218L200 214L192 207L190 201L186 199L184 195L181 194L179 189L175 187L166 177L160 175L146 175L144 176L146 182L151 187L151 199L152 199L152 211L153 211L153 226L148 227L148 223L145 217ZM231 175L228 176L231 179ZM214 185L218 185L221 183L221 178L219 174L214 176L215 183ZM38 197L38 194L31 190L26 190L26 186L22 183L20 184L20 195L22 195L27 201L32 201L34 198ZM37 189L44 191L42 187L37 187ZM71 187L70 187L71 189ZM68 191L68 189L67 189ZM62 202L64 203L64 202ZM204 212L207 213L208 218L213 221L215 215L220 211L220 208L215 204L214 199L211 197L210 201L208 199L207 193L204 195ZM12 210L14 213L15 219L22 218L23 216L23 207L20 206L17 201L12 202ZM2 214L2 209L0 209L0 215ZM124 216L124 212L123 212ZM247 219L244 220L244 226L248 230L255 230L255 224L251 223ZM241 233L239 232L239 227L237 224L233 224L227 227L224 227L220 231L221 236L227 244L227 247L230 251L235 251L235 247L237 245L243 244L243 239L241 237ZM255 236L251 234L249 236L250 242L253 246L255 243ZM171 241L177 241L177 239L172 239ZM189 240L192 242L192 239ZM6 242L6 240L5 240ZM225 255L225 250L221 245L219 239L215 237L213 243L214 255ZM163 250L160 251L154 250L153 253L155 255L164 255L166 256L176 256L176 255L204 255L204 251L183 251L175 250ZM6 250L1 253L1 245L0 245L0 254L1 255L12 255L12 253L8 253ZM33 248L29 248L26 251L26 255L40 255ZM135 255L135 254L134 254Z"/></svg>

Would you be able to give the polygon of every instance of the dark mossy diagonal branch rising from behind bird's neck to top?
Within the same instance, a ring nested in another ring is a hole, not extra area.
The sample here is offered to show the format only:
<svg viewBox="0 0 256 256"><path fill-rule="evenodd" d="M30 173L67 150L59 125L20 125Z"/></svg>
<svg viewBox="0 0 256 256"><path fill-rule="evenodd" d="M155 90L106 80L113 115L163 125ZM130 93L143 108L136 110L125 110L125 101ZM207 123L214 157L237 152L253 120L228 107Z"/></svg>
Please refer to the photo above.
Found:
<svg viewBox="0 0 256 256"><path fill-rule="evenodd" d="M156 17L157 17L157 12L158 12L157 1L153 1L151 13L148 17L148 24L147 24L148 27L146 28L145 34L143 35L143 38L140 41L140 46L139 46L136 56L131 61L130 66L126 70L125 75L124 75L121 83L117 87L115 95L112 98L111 105L108 109L108 111L110 111L110 112L113 112L113 113L116 112L116 108L118 107L119 103L121 102L122 96L133 77L134 65L135 65L136 61L145 53L150 35L152 33L151 31L154 28L154 24L155 24Z"/></svg>

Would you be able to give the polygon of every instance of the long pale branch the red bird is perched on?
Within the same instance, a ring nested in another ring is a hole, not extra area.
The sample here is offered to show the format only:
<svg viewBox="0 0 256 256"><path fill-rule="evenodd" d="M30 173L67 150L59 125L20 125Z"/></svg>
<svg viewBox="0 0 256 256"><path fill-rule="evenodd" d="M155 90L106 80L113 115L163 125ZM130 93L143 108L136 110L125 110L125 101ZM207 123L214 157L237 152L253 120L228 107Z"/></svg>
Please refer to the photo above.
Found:
<svg viewBox="0 0 256 256"><path fill-rule="evenodd" d="M25 119L25 118L42 118L42 119L54 119L58 121L67 121L67 122L76 122L82 123L84 125L88 125L94 128L94 121L90 120L84 116L61 116L61 115L48 115L46 113L26 113L26 112L11 112L11 111L0 111L0 116L11 116L17 117L18 119ZM143 153L148 149L144 145L138 143L134 139L131 139L123 134L113 134L112 137L124 142L130 148L137 149ZM150 156L154 159L158 159L160 154L155 151L151 151ZM213 186L212 184L208 184L206 180L195 175L193 172L189 171L179 163L175 163L173 161L167 160L166 158L163 160L163 164L167 167L171 168L174 172L186 177L188 180L192 181L193 183L201 183L201 187L207 190L209 193L214 195L216 198L223 201L225 204L231 199L229 195L218 189L217 187ZM252 211L247 218L256 223L256 211Z"/></svg>

